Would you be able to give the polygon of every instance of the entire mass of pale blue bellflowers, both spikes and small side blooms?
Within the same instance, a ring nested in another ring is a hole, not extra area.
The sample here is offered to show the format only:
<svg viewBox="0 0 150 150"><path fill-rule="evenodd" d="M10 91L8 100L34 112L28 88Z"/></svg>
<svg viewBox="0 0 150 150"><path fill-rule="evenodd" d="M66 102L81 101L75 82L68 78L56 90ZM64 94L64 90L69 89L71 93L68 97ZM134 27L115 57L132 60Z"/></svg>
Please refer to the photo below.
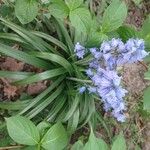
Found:
<svg viewBox="0 0 150 150"><path fill-rule="evenodd" d="M148 53L145 51L142 39L129 39L123 43L121 39L113 38L104 41L99 48L90 48L93 60L89 62L86 75L92 81L92 85L79 89L83 93L88 89L89 93L95 93L104 104L105 111L111 111L112 115L121 122L125 121L126 110L123 98L127 91L121 86L122 77L117 74L117 67L126 63L141 61ZM85 48L79 43L75 46L78 58L83 58Z"/></svg>

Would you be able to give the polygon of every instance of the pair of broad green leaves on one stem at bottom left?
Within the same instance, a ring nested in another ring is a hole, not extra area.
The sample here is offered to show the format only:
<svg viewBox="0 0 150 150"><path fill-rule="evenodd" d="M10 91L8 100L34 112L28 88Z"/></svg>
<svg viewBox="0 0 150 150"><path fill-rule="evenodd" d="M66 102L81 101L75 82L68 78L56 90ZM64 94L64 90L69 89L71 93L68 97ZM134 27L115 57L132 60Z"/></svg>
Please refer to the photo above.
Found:
<svg viewBox="0 0 150 150"><path fill-rule="evenodd" d="M48 130L44 135L43 130L39 130L29 119L22 116L6 118L7 130L10 137L18 144L34 145L38 150L53 148L62 150L68 143L68 135L61 123L53 126L46 126ZM43 123L42 123L43 124ZM41 126L41 125L40 125ZM45 128L41 126L41 128Z"/></svg>

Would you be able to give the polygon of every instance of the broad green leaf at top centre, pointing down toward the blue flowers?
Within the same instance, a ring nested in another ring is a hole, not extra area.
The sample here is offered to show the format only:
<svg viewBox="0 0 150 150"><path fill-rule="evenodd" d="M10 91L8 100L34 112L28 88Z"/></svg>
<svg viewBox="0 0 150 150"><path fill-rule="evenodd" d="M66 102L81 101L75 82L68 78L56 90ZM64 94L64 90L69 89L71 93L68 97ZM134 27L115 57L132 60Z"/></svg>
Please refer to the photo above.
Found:
<svg viewBox="0 0 150 150"><path fill-rule="evenodd" d="M86 8L77 8L70 12L69 18L72 26L78 32L88 32L91 26L91 14Z"/></svg>

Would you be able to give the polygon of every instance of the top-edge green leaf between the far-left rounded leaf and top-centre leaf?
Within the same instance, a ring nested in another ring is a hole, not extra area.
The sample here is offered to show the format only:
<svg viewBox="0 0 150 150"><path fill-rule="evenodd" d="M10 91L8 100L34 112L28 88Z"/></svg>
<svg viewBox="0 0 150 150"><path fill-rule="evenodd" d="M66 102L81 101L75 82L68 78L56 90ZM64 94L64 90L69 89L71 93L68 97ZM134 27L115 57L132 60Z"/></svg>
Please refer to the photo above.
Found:
<svg viewBox="0 0 150 150"><path fill-rule="evenodd" d="M49 5L50 13L56 18L65 18L69 15L69 9L63 0L52 0Z"/></svg>

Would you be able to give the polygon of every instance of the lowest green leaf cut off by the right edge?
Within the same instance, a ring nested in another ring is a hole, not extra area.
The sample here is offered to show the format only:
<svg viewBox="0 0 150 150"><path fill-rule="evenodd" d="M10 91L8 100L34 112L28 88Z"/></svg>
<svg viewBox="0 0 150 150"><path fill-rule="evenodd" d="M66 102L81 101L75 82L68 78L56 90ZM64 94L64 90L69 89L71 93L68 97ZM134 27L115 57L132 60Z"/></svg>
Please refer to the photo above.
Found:
<svg viewBox="0 0 150 150"><path fill-rule="evenodd" d="M144 110L150 112L150 87L144 90L143 105L144 105Z"/></svg>

